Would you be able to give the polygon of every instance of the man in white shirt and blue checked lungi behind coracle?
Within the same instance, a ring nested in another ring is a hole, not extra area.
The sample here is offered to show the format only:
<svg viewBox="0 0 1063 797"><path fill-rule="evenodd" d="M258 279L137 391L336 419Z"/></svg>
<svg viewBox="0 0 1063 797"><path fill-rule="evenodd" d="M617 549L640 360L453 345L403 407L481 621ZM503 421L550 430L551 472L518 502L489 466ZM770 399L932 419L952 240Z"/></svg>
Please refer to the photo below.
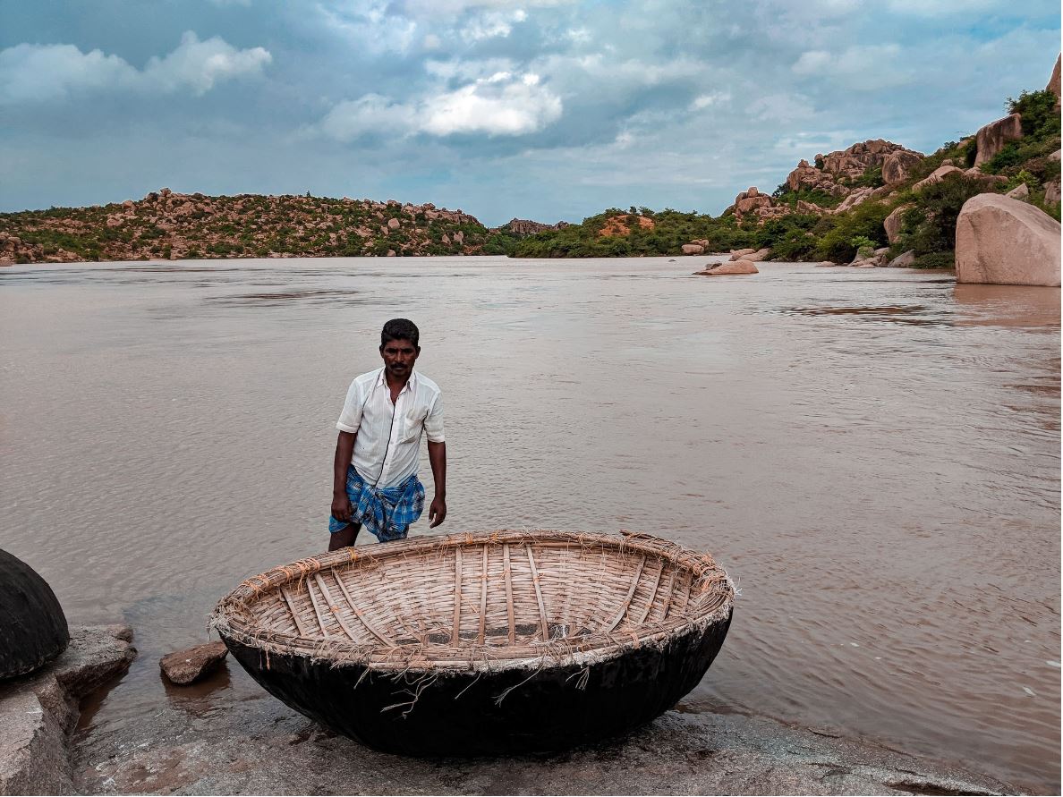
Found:
<svg viewBox="0 0 1063 797"><path fill-rule="evenodd" d="M424 509L417 477L421 431L436 495L428 528L446 518L446 444L439 387L414 371L421 354L412 321L392 319L381 332L384 368L356 376L336 428L328 549L354 545L365 526L377 541L402 540Z"/></svg>

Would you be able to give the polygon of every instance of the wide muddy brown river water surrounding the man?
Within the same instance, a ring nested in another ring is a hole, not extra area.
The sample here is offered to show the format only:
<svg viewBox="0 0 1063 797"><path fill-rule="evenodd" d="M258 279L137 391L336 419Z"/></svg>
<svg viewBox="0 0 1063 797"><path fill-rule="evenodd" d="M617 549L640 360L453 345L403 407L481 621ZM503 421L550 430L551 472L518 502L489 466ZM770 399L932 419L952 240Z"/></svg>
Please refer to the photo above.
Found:
<svg viewBox="0 0 1063 797"><path fill-rule="evenodd" d="M81 732L261 697L231 664L189 698L157 660L325 547L344 391L408 317L444 391L440 530L642 529L739 583L685 711L1058 792L1059 290L704 259L0 271L0 546L141 651Z"/></svg>

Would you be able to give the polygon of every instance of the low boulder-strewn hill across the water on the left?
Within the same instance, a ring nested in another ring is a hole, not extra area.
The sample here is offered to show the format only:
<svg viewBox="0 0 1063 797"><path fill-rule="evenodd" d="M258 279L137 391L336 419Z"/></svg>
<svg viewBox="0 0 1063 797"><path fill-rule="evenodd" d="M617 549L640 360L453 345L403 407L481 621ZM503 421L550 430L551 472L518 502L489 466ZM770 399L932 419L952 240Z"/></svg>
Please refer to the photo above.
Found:
<svg viewBox="0 0 1063 797"><path fill-rule="evenodd" d="M152 191L92 207L0 214L0 264L216 257L502 254L461 210L394 200Z"/></svg>

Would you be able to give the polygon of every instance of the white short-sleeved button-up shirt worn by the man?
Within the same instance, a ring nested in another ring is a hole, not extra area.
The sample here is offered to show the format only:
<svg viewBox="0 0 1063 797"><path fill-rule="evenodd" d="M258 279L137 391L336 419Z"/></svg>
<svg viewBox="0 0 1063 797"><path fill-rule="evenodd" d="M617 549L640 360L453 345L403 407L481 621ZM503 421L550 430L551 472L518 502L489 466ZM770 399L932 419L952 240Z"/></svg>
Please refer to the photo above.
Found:
<svg viewBox="0 0 1063 797"><path fill-rule="evenodd" d="M443 402L439 386L417 371L391 404L384 369L354 377L336 428L356 434L351 464L362 479L394 487L417 473L421 430L443 442Z"/></svg>

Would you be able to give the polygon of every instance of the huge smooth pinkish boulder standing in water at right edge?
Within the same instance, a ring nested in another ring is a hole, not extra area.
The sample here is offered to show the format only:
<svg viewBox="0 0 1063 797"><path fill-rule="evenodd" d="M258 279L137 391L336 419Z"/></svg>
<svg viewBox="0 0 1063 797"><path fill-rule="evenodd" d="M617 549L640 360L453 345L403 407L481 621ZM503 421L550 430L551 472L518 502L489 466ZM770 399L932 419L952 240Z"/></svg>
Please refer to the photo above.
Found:
<svg viewBox="0 0 1063 797"><path fill-rule="evenodd" d="M979 193L956 222L956 281L1060 285L1060 223L1037 207Z"/></svg>

